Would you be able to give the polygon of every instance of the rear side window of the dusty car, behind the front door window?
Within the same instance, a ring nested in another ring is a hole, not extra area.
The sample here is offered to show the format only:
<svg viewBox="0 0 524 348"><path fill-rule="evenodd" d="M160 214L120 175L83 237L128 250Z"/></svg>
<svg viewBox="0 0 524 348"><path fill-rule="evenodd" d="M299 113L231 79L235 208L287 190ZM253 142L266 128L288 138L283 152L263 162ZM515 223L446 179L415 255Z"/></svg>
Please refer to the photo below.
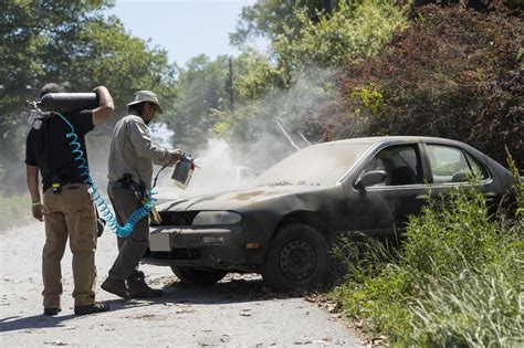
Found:
<svg viewBox="0 0 524 348"><path fill-rule="evenodd" d="M452 146L428 145L428 158L433 183L484 180L485 168L470 154Z"/></svg>

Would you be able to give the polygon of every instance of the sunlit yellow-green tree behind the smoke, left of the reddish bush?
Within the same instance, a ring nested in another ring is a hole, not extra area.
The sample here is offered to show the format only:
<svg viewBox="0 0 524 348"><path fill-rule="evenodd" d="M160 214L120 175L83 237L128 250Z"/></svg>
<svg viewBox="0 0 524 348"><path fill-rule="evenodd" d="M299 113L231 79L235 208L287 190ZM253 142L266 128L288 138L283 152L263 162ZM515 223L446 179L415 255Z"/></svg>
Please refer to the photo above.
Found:
<svg viewBox="0 0 524 348"><path fill-rule="evenodd" d="M283 138L276 127L280 120L290 134L300 131L314 143L325 140L317 114L334 99L336 67L377 53L392 32L407 23L407 7L391 1L337 1L332 13L317 12L300 1L296 6L281 4L270 1L254 6L256 11L264 11L262 21L271 17L268 25L273 27L260 28L273 39L273 55L248 51L239 57L240 74L234 81L239 103L232 114L216 114L220 122L213 134L250 143L266 135ZM293 19L287 21L289 17ZM378 86L361 88L353 96L374 110L382 105Z"/></svg>

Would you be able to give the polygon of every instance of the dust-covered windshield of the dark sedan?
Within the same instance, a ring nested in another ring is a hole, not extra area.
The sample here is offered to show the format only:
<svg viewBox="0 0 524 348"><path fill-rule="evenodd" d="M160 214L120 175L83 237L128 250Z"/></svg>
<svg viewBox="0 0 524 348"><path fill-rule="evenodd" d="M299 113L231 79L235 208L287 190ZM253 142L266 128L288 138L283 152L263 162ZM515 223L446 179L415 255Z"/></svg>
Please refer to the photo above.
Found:
<svg viewBox="0 0 524 348"><path fill-rule="evenodd" d="M331 144L304 148L256 179L258 186L335 184L371 144Z"/></svg>

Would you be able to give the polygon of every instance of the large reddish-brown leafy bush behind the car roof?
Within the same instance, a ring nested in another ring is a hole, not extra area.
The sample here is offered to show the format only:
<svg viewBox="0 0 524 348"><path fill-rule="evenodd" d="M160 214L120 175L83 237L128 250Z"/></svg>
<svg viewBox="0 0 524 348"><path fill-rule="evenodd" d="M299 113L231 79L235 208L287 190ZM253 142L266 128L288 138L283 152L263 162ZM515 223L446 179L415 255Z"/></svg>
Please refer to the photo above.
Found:
<svg viewBox="0 0 524 348"><path fill-rule="evenodd" d="M468 141L499 162L507 145L522 168L523 68L515 60L522 20L503 9L462 6L413 8L411 17L380 54L345 65L338 97L319 117L327 138L441 136ZM347 95L369 85L382 106L348 118L363 105Z"/></svg>

